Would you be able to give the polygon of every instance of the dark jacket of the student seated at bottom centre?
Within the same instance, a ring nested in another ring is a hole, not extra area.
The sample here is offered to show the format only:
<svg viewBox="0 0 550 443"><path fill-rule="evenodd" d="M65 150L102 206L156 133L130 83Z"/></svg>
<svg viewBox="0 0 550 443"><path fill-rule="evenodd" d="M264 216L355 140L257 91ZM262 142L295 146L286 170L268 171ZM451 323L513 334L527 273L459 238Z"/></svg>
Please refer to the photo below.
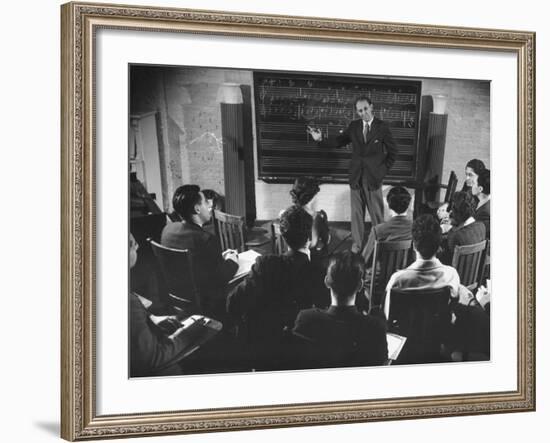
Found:
<svg viewBox="0 0 550 443"><path fill-rule="evenodd" d="M310 343L310 367L380 365L388 358L384 322L355 306L300 311L293 333Z"/></svg>

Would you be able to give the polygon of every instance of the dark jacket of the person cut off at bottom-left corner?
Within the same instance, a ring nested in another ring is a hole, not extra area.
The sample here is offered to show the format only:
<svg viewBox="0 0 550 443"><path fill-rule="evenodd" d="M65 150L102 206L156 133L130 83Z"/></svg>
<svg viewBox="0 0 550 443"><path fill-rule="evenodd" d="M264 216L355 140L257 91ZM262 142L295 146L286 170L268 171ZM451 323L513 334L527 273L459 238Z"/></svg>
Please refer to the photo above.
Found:
<svg viewBox="0 0 550 443"><path fill-rule="evenodd" d="M135 294L129 294L129 303L130 375L168 375L178 356L195 346L195 337L179 334L170 340L149 320L149 312Z"/></svg>

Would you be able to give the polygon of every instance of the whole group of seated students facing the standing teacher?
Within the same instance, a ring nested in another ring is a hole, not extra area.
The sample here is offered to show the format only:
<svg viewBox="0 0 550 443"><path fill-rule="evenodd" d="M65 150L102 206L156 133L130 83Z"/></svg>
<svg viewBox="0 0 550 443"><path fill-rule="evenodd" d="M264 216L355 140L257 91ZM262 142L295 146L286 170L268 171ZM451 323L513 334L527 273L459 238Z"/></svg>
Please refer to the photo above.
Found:
<svg viewBox="0 0 550 443"><path fill-rule="evenodd" d="M282 211L278 220L288 252L258 257L244 280L229 293L228 282L238 268L238 257L235 251L222 252L216 236L205 229L213 203L198 186L185 185L176 190L173 209L182 221L164 228L161 243L192 251L203 313L236 331L254 369L383 364L388 357L386 319L392 288L449 286L453 315L451 333L442 338L443 348L453 360L465 354L488 358L487 311L449 266L456 246L489 238L490 171L480 164L483 166L480 161L467 166L465 186L440 208L440 221L429 214L411 220L407 216L411 195L403 187L393 187L387 194L391 217L372 227L361 254L347 251L329 256L327 215L313 205L319 185L312 178L297 179L291 190L293 204ZM391 277L383 310L369 314L357 300L364 298L366 265L372 260L375 242L395 240L412 240L416 260ZM483 289L482 295L486 295ZM135 296L131 297L131 305L132 319L136 313L139 322L135 324L140 325L136 329L131 322L132 347L139 348L145 341L149 351L143 352L150 353L152 348L164 346L162 351L155 351L154 357L136 363L145 367L138 373L150 372L159 359L181 351L186 343L171 339L168 346L159 339L158 344L151 344L147 334L144 338L144 316L136 307ZM137 330L140 332L134 334ZM296 353L296 341L308 344L299 349L311 352Z"/></svg>

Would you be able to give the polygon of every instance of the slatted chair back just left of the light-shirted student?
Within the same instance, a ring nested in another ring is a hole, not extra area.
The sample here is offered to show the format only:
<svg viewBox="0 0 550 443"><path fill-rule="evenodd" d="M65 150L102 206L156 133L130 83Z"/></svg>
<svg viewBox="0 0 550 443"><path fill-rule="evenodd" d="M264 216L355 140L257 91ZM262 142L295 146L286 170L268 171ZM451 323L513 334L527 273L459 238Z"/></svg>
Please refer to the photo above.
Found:
<svg viewBox="0 0 550 443"><path fill-rule="evenodd" d="M380 293L385 293L386 285L390 280L390 277L400 269L405 269L409 261L409 254L411 250L411 240L400 241L376 241L374 243L373 259L372 259L372 277L370 282L369 298L373 302L373 295L376 290L380 290ZM376 273L377 266L380 272ZM383 305L383 300L380 304Z"/></svg>

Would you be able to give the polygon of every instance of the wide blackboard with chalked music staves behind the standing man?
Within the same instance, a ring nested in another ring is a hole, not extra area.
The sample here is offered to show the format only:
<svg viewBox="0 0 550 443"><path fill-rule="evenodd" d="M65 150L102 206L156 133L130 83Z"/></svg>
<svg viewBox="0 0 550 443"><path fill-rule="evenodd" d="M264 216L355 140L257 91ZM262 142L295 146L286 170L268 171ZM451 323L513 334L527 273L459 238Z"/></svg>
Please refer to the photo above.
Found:
<svg viewBox="0 0 550 443"><path fill-rule="evenodd" d="M336 136L358 118L354 101L365 95L389 126L398 155L385 182L416 181L421 82L366 76L254 72L258 177L290 183L311 175L347 183L351 146L321 148L306 132Z"/></svg>

